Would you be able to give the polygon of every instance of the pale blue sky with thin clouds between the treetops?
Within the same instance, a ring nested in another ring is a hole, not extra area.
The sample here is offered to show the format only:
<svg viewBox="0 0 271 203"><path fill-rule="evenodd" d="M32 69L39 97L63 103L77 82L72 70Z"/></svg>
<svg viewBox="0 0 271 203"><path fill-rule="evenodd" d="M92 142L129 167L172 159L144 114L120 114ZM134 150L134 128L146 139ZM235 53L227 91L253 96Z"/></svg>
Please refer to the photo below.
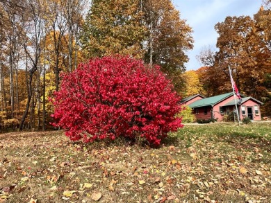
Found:
<svg viewBox="0 0 271 203"><path fill-rule="evenodd" d="M227 16L249 15L253 17L261 7L261 0L173 0L180 11L181 19L186 19L192 27L194 48L188 51L187 70L199 69L202 65L196 59L204 46L215 49L217 33L215 24L224 21Z"/></svg>

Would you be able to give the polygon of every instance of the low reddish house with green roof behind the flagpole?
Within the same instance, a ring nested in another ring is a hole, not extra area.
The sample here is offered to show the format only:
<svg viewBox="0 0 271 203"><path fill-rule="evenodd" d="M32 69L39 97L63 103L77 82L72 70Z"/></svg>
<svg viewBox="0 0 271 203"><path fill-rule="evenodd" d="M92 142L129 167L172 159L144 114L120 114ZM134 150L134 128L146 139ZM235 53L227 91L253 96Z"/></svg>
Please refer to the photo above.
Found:
<svg viewBox="0 0 271 203"><path fill-rule="evenodd" d="M246 97L241 95L242 101L237 105L240 120L245 117L249 117L253 121L261 121L260 105L263 105L261 101L252 97ZM196 100L194 100L197 98ZM190 96L190 99L186 98L182 100L182 104L186 104L193 109L197 119L210 119L217 118L217 121L222 121L224 115L230 112L236 112L236 102L234 100L233 93L221 94L208 98L199 97L199 95ZM192 102L190 102L192 101Z"/></svg>

